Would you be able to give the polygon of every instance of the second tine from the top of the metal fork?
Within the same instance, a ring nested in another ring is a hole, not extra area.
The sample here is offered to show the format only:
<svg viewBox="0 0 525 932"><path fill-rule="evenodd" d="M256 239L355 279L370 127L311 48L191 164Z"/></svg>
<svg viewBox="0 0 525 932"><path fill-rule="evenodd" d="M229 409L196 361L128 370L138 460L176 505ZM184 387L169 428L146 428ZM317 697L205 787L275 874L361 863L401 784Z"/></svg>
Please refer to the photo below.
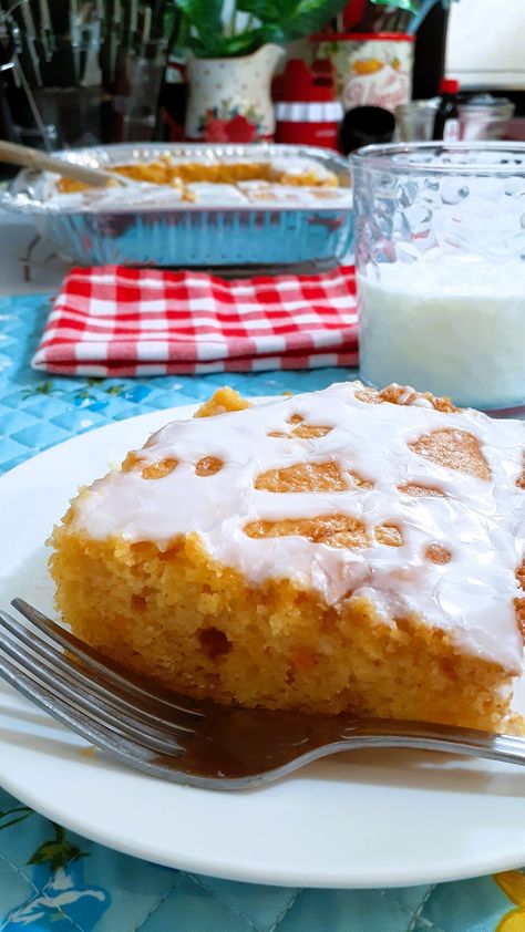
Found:
<svg viewBox="0 0 525 932"><path fill-rule="evenodd" d="M175 718L174 710L171 710L171 715L167 716L165 714L166 706L154 704L154 701L150 700L147 694L144 694L141 698L138 693L135 695L132 692L128 695L120 686L109 683L107 679L100 672L87 671L76 657L69 657L62 651L58 651L51 643L44 641L39 633L21 624L7 612L0 611L0 631L2 628L24 644L28 650L38 654L44 662L50 663L53 671L60 670L71 675L74 670L75 680L81 681L87 690L114 706L120 715L126 715L131 710L134 716L146 726L156 728L162 724L172 732L192 731L187 724L183 724Z"/></svg>

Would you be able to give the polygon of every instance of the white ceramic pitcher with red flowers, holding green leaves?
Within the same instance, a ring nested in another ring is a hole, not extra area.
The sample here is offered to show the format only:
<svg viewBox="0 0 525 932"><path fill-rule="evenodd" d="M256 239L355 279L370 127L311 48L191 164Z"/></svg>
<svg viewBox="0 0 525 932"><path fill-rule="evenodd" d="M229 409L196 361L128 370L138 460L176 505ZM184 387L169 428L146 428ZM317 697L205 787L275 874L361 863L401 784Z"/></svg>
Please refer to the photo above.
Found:
<svg viewBox="0 0 525 932"><path fill-rule="evenodd" d="M186 137L210 143L271 138L275 120L270 83L281 54L278 45L267 44L240 58L192 58Z"/></svg>

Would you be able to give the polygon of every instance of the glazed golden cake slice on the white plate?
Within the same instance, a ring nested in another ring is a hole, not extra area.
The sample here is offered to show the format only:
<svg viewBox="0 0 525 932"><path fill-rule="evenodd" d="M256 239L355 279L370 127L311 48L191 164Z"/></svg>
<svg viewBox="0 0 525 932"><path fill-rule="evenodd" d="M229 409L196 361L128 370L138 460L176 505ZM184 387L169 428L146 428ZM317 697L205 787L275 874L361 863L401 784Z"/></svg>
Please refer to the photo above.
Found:
<svg viewBox="0 0 525 932"><path fill-rule="evenodd" d="M188 695L504 731L524 449L525 423L397 385L220 390L73 500L59 609Z"/></svg>

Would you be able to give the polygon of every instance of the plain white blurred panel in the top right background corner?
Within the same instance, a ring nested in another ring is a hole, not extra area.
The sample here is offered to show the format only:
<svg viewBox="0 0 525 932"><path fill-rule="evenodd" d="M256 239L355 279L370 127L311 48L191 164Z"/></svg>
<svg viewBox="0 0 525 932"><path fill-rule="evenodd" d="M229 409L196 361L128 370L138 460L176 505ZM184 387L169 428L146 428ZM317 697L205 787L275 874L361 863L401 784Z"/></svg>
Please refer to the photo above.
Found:
<svg viewBox="0 0 525 932"><path fill-rule="evenodd" d="M465 90L525 89L525 0L453 2L446 75Z"/></svg>

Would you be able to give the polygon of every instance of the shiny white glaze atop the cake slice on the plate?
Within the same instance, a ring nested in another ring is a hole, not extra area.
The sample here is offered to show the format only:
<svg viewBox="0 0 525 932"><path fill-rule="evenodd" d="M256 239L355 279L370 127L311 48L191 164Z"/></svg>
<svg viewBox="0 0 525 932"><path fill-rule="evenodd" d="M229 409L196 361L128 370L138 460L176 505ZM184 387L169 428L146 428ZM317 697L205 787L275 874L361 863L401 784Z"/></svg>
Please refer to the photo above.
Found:
<svg viewBox="0 0 525 932"><path fill-rule="evenodd" d="M525 423L494 421L473 411L442 413L425 400L413 405L369 404L354 395L359 383L215 417L172 422L137 456L147 463L177 459L162 479L142 478L142 468L114 470L97 480L75 507L75 530L103 539L151 540L161 549L177 535L196 532L209 555L254 583L282 576L319 591L330 604L366 596L380 613L416 612L450 633L457 648L491 659L511 672L523 664L523 641L514 599L523 594L515 570L523 557ZM289 418L332 429L301 439ZM469 432L480 443L492 478L430 462L408 446L432 431ZM269 437L282 432L287 437ZM204 456L224 460L212 476L195 474ZM339 465L373 483L347 491L257 490L257 476L297 463ZM405 484L439 488L436 497L410 497ZM348 515L362 521L370 546L344 549L301 536L255 539L255 520ZM403 546L374 540L384 522L399 527ZM451 551L446 565L429 562L429 545ZM350 594L349 594L350 593Z"/></svg>

